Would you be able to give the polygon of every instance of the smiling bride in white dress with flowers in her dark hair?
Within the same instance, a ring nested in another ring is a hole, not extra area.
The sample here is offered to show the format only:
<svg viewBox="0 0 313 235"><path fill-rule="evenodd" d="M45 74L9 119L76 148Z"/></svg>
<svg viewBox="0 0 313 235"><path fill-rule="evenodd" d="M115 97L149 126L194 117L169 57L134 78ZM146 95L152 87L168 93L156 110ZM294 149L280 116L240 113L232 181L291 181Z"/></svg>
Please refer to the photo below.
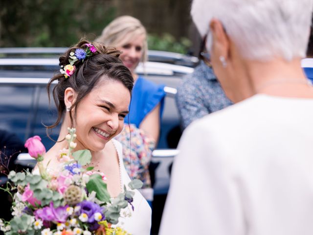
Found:
<svg viewBox="0 0 313 235"><path fill-rule="evenodd" d="M74 151L90 150L90 165L105 174L111 197L116 197L130 182L121 144L112 140L123 129L134 84L131 72L118 59L119 54L120 51L101 43L81 41L59 58L61 73L47 85L50 94L52 83L58 81L52 90L58 118L47 128L61 124L61 130L58 141L45 154L44 165L49 170L59 168L60 149L68 148L67 128L75 127ZM123 228L134 235L150 234L151 209L137 190L133 205L132 216L123 218Z"/></svg>

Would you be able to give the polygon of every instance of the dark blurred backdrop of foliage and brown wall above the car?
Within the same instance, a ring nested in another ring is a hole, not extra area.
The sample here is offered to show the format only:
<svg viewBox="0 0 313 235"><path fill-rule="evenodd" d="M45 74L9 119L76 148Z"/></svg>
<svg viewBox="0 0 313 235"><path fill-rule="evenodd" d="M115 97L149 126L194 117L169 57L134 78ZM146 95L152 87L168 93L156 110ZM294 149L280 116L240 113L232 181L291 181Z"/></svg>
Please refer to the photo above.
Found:
<svg viewBox="0 0 313 235"><path fill-rule="evenodd" d="M69 47L94 40L114 18L130 15L149 33L149 49L197 54L190 0L1 0L0 47Z"/></svg>

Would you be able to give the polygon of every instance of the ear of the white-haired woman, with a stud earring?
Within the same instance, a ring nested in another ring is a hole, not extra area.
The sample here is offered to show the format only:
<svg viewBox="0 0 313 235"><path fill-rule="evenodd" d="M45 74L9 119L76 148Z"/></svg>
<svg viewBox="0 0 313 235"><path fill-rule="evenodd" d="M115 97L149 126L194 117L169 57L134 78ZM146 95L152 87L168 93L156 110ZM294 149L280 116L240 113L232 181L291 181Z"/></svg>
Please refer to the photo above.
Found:
<svg viewBox="0 0 313 235"><path fill-rule="evenodd" d="M230 42L223 24L219 20L213 18L210 22L210 32L212 33L212 43L214 43L212 47L214 47L215 53L217 53L218 56L223 56L227 60Z"/></svg>

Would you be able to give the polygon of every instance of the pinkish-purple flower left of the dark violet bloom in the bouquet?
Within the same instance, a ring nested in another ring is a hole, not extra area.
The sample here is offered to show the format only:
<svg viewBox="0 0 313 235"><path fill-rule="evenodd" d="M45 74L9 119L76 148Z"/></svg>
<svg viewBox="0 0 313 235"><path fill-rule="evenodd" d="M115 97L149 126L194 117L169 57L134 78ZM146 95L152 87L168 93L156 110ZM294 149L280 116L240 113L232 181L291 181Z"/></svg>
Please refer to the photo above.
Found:
<svg viewBox="0 0 313 235"><path fill-rule="evenodd" d="M65 223L67 221L67 207L54 208L53 202L48 207L35 211L35 217L45 221L55 221L58 223Z"/></svg>

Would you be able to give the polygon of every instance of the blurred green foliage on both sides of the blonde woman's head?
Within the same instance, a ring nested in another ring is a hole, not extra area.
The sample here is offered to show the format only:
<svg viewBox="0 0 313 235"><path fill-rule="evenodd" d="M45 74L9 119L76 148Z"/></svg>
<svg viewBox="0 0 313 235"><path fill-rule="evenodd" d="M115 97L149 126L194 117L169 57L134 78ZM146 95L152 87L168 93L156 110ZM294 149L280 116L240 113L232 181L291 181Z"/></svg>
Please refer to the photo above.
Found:
<svg viewBox="0 0 313 235"><path fill-rule="evenodd" d="M0 0L0 47L69 47L94 40L117 15L111 0ZM186 53L187 38L149 34L149 49Z"/></svg>

